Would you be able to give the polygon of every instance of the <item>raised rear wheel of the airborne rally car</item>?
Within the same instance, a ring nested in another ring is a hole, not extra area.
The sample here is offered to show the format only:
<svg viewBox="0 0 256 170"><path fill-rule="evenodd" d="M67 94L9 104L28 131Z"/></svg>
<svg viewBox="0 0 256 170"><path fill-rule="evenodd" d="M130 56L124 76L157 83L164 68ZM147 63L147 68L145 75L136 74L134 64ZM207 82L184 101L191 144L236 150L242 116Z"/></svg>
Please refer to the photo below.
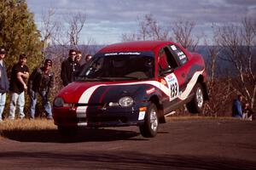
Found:
<svg viewBox="0 0 256 170"><path fill-rule="evenodd" d="M197 82L194 88L193 99L187 104L190 113L201 113L204 104L204 91L201 83Z"/></svg>

